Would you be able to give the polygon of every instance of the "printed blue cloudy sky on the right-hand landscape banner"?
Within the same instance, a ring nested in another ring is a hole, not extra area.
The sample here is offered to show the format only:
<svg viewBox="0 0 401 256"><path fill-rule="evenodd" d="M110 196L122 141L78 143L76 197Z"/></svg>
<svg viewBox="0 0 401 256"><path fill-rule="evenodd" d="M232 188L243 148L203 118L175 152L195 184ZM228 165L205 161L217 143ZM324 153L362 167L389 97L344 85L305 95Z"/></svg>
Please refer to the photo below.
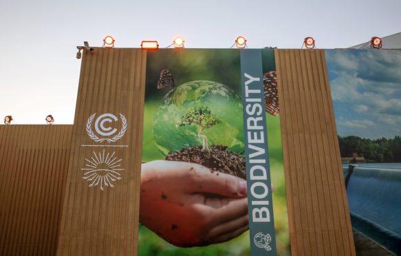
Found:
<svg viewBox="0 0 401 256"><path fill-rule="evenodd" d="M328 50L334 116L340 136L401 136L401 50Z"/></svg>

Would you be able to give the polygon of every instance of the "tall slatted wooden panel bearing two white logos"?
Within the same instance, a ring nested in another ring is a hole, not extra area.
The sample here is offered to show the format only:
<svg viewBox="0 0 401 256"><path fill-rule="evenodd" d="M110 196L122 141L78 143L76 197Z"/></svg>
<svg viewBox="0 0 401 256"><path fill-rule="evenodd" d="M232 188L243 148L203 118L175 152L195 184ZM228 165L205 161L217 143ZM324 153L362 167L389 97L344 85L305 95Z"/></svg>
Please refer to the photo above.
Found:
<svg viewBox="0 0 401 256"><path fill-rule="evenodd" d="M83 55L58 255L136 255L146 51L95 48ZM120 114L127 119L125 132ZM106 120L103 128L100 119ZM102 136L96 127L118 132ZM94 136L116 140L95 141ZM113 168L119 174L107 176L104 170ZM83 179L90 170L100 178ZM113 182L113 175L122 179ZM96 179L99 183L93 183ZM107 179L114 187L105 185Z"/></svg>

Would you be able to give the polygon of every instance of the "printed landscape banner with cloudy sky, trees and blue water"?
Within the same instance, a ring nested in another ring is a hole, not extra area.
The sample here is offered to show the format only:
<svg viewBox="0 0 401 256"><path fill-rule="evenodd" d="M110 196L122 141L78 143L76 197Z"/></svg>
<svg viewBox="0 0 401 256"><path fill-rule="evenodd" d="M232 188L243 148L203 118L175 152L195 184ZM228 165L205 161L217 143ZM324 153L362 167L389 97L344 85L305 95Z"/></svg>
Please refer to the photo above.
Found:
<svg viewBox="0 0 401 256"><path fill-rule="evenodd" d="M352 227L400 255L401 51L325 56Z"/></svg>

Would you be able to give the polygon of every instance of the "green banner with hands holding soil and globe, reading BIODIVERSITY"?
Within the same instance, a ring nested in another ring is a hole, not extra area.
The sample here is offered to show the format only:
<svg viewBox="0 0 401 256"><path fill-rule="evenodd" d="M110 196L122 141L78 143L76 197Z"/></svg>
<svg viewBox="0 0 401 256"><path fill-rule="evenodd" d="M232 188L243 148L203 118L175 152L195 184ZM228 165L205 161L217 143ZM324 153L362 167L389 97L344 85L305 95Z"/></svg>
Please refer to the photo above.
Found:
<svg viewBox="0 0 401 256"><path fill-rule="evenodd" d="M290 252L273 50L147 53L138 255Z"/></svg>

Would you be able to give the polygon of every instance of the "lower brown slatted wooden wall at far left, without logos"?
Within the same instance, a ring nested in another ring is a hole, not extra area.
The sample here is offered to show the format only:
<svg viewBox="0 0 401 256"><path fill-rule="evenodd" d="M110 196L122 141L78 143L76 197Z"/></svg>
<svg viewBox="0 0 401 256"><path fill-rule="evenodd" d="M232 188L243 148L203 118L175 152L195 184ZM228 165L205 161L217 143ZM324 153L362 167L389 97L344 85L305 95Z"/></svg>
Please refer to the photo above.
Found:
<svg viewBox="0 0 401 256"><path fill-rule="evenodd" d="M55 255L72 125L0 126L1 255Z"/></svg>

